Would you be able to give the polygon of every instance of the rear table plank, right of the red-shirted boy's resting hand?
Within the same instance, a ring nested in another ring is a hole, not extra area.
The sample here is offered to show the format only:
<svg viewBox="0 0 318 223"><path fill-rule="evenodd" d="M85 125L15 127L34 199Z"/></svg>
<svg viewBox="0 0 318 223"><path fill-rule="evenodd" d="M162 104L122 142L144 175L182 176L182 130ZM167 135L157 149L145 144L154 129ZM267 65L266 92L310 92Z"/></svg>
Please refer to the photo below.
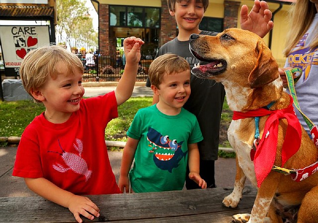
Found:
<svg viewBox="0 0 318 223"><path fill-rule="evenodd" d="M225 196L231 189L215 188L207 190L182 190L159 193L123 194L116 198L116 203L102 202L100 197L91 198L101 210L101 215L109 221L133 220L144 218L176 217L228 211L222 205ZM238 209L251 208L255 199L256 190L246 187ZM97 200L95 200L97 199ZM111 199L113 201L114 199ZM119 217L118 213L122 213Z"/></svg>

